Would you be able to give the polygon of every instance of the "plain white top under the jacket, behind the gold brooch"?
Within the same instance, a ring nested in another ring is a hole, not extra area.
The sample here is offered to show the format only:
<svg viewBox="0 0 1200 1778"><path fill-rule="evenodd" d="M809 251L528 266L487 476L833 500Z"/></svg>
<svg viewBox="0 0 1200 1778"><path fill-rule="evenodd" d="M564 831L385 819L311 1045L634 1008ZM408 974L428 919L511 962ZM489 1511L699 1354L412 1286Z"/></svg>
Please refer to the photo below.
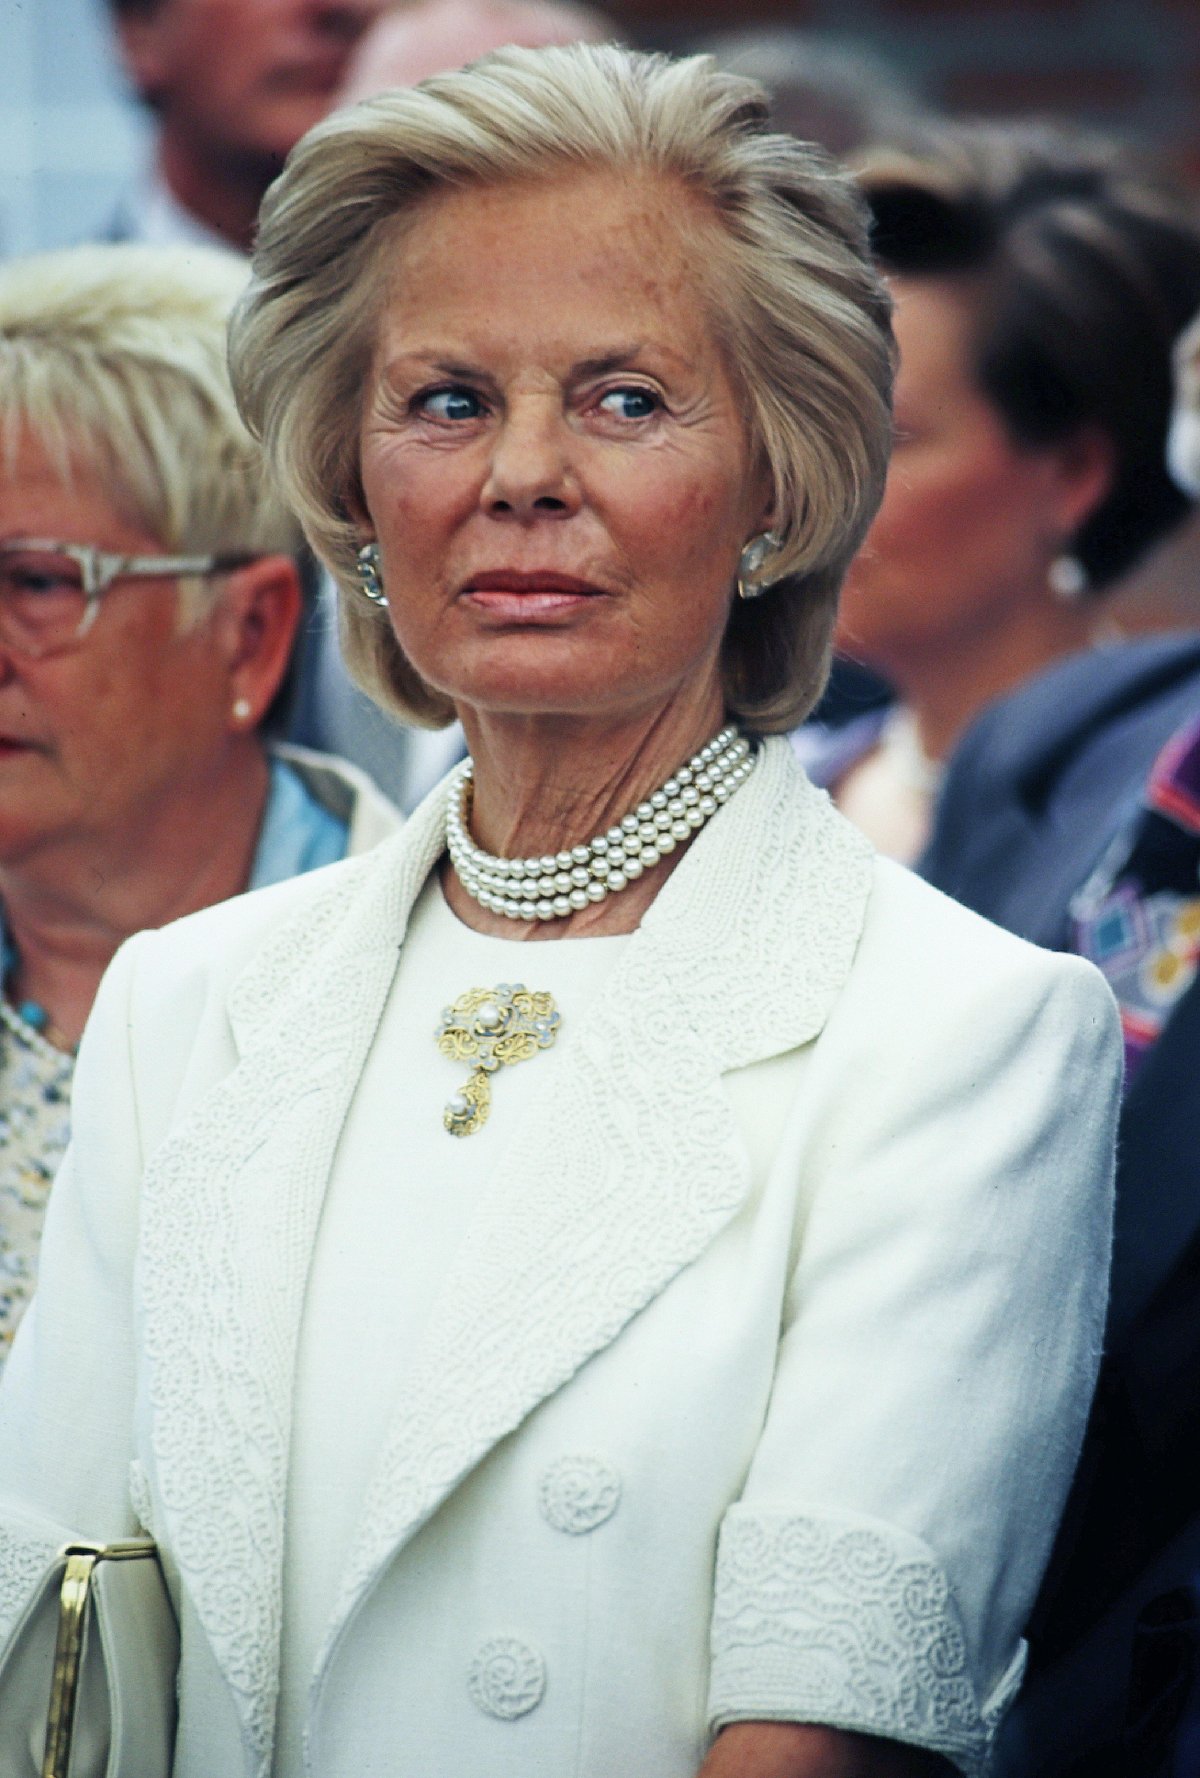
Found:
<svg viewBox="0 0 1200 1778"><path fill-rule="evenodd" d="M304 1769L309 1678L352 1554L366 1478L439 1285L514 1133L553 1104L558 1076L587 1033L592 997L603 992L628 942L617 937L530 946L517 937L471 932L446 907L436 873L416 898L400 967L334 1154L300 1317L276 1778L295 1778ZM471 1065L439 1051L437 1021L468 989L505 981L555 996L562 1021L556 1040L500 1069L484 1127L469 1138L450 1136L443 1108ZM354 1389L345 1387L348 1374ZM363 1700L357 1730L364 1746L389 1742L386 1691Z"/></svg>

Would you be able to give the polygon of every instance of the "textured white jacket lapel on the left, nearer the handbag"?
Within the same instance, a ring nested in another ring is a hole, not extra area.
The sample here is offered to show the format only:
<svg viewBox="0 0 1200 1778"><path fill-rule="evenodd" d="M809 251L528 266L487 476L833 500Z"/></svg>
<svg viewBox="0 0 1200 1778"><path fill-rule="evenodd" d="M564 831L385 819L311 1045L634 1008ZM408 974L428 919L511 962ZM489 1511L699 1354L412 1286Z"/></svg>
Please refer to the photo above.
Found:
<svg viewBox="0 0 1200 1778"><path fill-rule="evenodd" d="M270 1760L279 1684L292 1383L334 1147L441 850L430 798L400 836L329 873L235 983L236 1069L153 1156L142 1310L158 1488L188 1595Z"/></svg>

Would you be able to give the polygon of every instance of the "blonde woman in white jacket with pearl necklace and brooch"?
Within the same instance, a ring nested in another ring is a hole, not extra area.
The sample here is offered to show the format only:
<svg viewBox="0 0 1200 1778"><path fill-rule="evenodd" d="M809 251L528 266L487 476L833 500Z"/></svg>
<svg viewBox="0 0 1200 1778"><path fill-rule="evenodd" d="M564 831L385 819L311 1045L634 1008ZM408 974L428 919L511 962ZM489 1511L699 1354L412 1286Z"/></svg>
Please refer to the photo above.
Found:
<svg viewBox="0 0 1200 1778"><path fill-rule="evenodd" d="M0 1497L158 1540L176 1778L983 1773L1120 1045L764 738L884 480L853 188L704 59L507 50L299 146L233 364L471 756L114 964Z"/></svg>

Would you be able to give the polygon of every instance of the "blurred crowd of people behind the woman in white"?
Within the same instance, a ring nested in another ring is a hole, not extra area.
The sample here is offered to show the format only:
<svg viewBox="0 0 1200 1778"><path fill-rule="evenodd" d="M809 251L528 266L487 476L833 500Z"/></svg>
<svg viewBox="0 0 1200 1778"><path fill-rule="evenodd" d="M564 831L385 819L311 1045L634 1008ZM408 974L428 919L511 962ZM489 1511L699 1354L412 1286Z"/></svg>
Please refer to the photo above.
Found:
<svg viewBox="0 0 1200 1778"><path fill-rule="evenodd" d="M347 672L238 420L263 194L331 108L569 0L110 0L153 119L96 240L0 267L0 1357L73 1054L123 939L363 850L462 756ZM690 48L859 174L896 443L793 736L884 853L1108 978L1125 1033L1109 1326L1003 1778L1200 1771L1200 196L1067 121L930 114L770 27Z"/></svg>

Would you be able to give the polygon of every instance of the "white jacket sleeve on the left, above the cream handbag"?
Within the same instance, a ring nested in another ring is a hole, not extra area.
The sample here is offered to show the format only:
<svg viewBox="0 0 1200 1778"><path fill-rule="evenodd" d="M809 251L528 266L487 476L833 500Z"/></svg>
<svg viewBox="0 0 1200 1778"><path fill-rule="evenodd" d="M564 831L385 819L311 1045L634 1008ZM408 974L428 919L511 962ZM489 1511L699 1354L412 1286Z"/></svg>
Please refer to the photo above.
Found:
<svg viewBox="0 0 1200 1778"><path fill-rule="evenodd" d="M0 1636L68 1534L137 1529L128 1494L142 1175L128 1044L137 944L117 953L87 1024L37 1291L0 1380Z"/></svg>

